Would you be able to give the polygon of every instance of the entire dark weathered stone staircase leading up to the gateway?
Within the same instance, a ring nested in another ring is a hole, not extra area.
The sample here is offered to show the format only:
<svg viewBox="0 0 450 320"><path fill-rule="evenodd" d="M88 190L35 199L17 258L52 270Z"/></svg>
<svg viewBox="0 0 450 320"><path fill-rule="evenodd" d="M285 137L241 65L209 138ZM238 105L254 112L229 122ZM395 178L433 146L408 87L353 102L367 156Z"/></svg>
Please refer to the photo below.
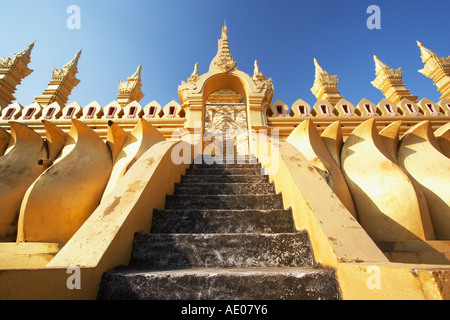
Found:
<svg viewBox="0 0 450 320"><path fill-rule="evenodd" d="M249 162L249 158L246 158ZM258 164L194 164L136 234L128 267L104 274L99 299L339 299L308 234Z"/></svg>

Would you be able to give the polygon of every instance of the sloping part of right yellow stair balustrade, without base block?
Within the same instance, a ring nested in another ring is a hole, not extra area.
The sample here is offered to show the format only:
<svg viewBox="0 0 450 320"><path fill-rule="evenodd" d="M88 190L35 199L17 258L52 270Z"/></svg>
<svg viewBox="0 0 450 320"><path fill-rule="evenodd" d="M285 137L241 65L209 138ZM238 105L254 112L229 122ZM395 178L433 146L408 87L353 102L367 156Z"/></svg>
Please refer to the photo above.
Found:
<svg viewBox="0 0 450 320"><path fill-rule="evenodd" d="M291 208L297 230L307 230L315 261L329 268L339 262L383 261L387 258L345 208L308 159L291 143L259 141L257 157L270 181ZM270 154L271 161L265 161ZM278 170L270 170L273 163Z"/></svg>

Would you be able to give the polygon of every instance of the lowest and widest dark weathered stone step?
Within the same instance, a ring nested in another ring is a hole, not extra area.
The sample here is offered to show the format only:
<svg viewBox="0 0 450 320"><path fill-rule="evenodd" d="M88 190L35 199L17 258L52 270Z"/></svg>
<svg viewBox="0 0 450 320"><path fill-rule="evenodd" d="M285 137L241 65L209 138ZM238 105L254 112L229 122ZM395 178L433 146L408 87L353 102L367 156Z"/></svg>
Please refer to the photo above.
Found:
<svg viewBox="0 0 450 320"><path fill-rule="evenodd" d="M100 285L100 300L339 300L328 269L113 270Z"/></svg>

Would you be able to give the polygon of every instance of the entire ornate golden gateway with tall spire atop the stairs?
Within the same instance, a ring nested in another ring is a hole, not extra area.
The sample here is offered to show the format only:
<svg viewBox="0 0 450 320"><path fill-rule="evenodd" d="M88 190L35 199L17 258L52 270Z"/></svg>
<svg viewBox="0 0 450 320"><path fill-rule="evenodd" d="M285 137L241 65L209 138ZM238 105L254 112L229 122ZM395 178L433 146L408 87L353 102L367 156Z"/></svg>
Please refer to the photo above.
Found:
<svg viewBox="0 0 450 320"><path fill-rule="evenodd" d="M267 79L262 74L256 60L254 67L253 76L237 68L230 52L228 29L225 25L222 26L217 54L210 63L209 71L200 75L196 64L191 76L178 87L180 103L186 112L184 127L194 134L194 141L204 138L205 129L217 127L226 131L227 126L231 126L235 127L235 131L242 129L244 132L233 139L233 144L237 146L236 153L249 154L249 149L254 149L254 131L267 129L266 112L274 93L272 79ZM224 101L221 102L222 107L217 105L219 96L237 97L236 93L243 97L242 103L239 102L240 106L228 103L226 107L227 103ZM198 142L195 145L204 146Z"/></svg>

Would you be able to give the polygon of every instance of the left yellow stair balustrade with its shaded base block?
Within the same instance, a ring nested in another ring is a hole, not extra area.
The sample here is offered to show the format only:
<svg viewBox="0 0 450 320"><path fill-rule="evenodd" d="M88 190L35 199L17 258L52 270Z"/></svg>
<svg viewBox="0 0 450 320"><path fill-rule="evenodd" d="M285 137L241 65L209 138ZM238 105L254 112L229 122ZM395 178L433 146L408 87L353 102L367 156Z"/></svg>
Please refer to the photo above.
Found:
<svg viewBox="0 0 450 320"><path fill-rule="evenodd" d="M153 209L164 208L184 174L187 165L171 159L180 144L187 143L160 142L142 155L45 268L0 271L0 299L96 299L103 273L128 264L134 234L149 232ZM73 266L80 267L81 290L67 286Z"/></svg>

